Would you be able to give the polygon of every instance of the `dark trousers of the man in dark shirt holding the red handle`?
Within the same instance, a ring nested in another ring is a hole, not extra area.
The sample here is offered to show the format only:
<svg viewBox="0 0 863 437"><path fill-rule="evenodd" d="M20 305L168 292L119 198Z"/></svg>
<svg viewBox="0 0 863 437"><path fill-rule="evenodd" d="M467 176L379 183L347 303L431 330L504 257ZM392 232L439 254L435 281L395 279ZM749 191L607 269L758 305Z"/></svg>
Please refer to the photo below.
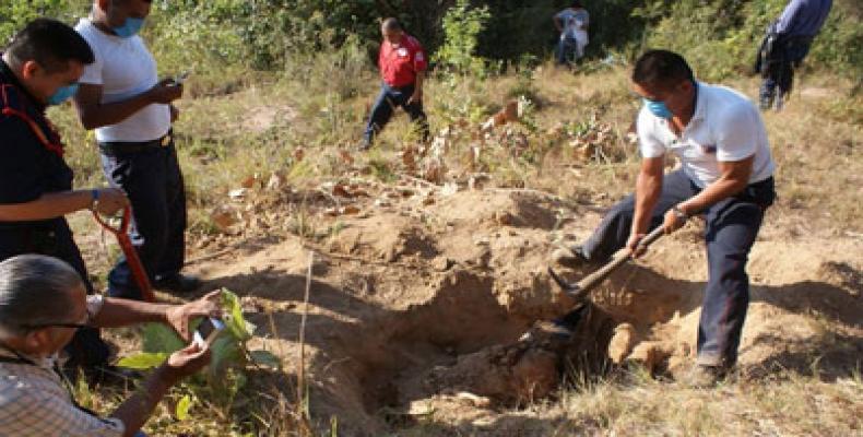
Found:
<svg viewBox="0 0 863 437"><path fill-rule="evenodd" d="M0 261L25 253L38 253L61 259L72 265L81 275L87 294L93 294L86 265L81 258L72 232L64 218L34 226L0 227ZM69 367L95 367L107 364L110 350L95 328L75 331L72 341L66 346Z"/></svg>

